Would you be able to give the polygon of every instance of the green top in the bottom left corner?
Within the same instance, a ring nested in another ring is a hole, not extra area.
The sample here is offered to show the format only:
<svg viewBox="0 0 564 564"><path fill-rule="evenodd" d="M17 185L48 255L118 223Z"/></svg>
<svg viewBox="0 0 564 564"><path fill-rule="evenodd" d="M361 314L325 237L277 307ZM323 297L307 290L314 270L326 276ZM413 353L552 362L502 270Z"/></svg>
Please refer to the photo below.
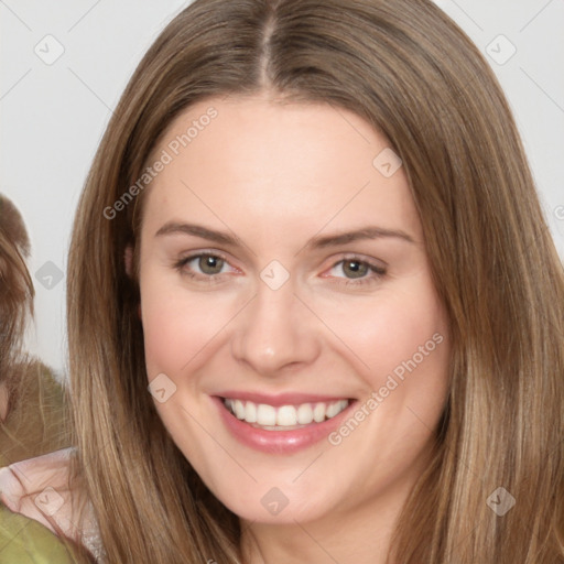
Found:
<svg viewBox="0 0 564 564"><path fill-rule="evenodd" d="M0 503L0 564L74 564L64 543L33 519Z"/></svg>

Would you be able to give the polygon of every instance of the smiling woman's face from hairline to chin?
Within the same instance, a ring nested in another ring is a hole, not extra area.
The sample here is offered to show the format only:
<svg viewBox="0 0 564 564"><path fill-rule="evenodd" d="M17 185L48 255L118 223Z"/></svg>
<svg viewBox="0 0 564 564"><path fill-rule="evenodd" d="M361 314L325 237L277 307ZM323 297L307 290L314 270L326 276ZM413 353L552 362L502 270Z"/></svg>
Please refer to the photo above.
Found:
<svg viewBox="0 0 564 564"><path fill-rule="evenodd" d="M329 105L229 97L180 116L150 165L141 316L178 448L249 521L392 516L449 344L386 138Z"/></svg>

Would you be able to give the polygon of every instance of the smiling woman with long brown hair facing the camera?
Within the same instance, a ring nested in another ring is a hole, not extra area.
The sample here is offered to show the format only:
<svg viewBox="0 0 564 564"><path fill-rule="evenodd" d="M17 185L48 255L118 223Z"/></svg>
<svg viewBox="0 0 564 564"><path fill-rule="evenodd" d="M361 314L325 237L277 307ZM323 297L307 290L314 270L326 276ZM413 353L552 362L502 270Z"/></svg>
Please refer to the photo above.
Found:
<svg viewBox="0 0 564 564"><path fill-rule="evenodd" d="M563 299L441 10L197 0L75 220L72 475L105 558L564 562Z"/></svg>

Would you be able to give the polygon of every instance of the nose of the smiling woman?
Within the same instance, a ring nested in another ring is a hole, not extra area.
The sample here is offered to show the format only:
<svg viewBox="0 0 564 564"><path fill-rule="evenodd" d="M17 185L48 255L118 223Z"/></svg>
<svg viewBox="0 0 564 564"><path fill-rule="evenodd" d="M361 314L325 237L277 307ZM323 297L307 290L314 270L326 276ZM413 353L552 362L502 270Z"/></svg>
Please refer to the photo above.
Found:
<svg viewBox="0 0 564 564"><path fill-rule="evenodd" d="M319 323L290 281L278 290L260 282L257 295L238 316L231 352L261 376L307 366L321 351Z"/></svg>

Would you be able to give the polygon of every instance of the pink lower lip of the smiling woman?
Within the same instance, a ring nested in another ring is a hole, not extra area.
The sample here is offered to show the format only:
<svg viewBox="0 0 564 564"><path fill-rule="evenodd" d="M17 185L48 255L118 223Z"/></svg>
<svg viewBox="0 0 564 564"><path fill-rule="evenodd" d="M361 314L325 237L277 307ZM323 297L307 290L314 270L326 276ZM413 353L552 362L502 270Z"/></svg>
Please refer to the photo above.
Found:
<svg viewBox="0 0 564 564"><path fill-rule="evenodd" d="M291 431L267 431L238 420L228 411L221 398L213 397L212 399L217 404L219 416L235 438L251 448L268 454L292 454L323 441L343 423L357 403L351 401L338 415L322 423L312 423Z"/></svg>

